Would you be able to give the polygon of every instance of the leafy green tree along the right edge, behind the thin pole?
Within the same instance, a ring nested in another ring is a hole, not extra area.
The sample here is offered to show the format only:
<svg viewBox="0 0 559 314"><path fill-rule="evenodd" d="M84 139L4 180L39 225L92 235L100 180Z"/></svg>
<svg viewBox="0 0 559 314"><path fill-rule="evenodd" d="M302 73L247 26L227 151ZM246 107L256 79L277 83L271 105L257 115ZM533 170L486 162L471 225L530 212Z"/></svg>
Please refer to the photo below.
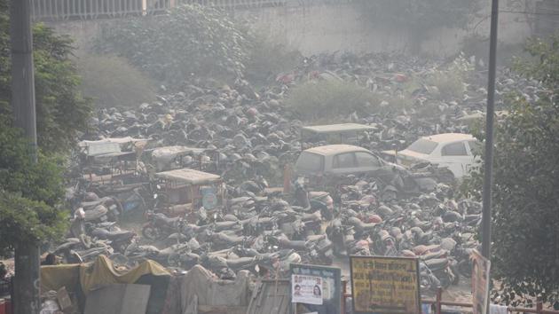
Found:
<svg viewBox="0 0 559 314"><path fill-rule="evenodd" d="M559 36L531 40L516 71L542 82L537 100L509 95L495 126L492 276L506 302L559 292ZM481 191L483 174L469 182Z"/></svg>

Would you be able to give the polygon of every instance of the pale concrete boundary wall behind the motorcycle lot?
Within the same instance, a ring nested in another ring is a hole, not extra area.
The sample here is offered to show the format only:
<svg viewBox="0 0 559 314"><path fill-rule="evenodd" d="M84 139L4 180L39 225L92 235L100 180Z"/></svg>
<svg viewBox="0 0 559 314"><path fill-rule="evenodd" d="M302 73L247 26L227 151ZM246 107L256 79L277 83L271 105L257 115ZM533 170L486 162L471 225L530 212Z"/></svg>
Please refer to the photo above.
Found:
<svg viewBox="0 0 559 314"><path fill-rule="evenodd" d="M531 10L537 1L525 0L524 8L516 8L515 11ZM288 43L306 55L325 51L404 52L410 50L414 40L413 35L401 29L370 27L353 4L270 7L236 11L234 15L249 20L255 29ZM421 54L451 56L461 49L464 36L489 35L489 8L478 15L467 29L440 28L431 31L429 39L421 43ZM51 23L51 26L59 33L76 39L79 55L90 46L103 22L106 20L65 21ZM531 35L533 24L530 16L501 12L500 42L524 42Z"/></svg>

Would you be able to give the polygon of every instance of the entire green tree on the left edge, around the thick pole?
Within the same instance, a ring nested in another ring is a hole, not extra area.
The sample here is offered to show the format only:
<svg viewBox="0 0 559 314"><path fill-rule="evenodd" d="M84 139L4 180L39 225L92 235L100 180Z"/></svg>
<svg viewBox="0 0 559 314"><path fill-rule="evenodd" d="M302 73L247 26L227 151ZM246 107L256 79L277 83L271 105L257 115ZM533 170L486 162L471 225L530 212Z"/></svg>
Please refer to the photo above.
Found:
<svg viewBox="0 0 559 314"><path fill-rule="evenodd" d="M0 0L0 255L10 252L17 241L40 243L65 230L66 212L60 208L64 168L54 156L75 143L91 114L69 59L72 41L40 24L33 27L33 34L41 147L36 163L29 157L30 143L12 128L10 16L8 1Z"/></svg>

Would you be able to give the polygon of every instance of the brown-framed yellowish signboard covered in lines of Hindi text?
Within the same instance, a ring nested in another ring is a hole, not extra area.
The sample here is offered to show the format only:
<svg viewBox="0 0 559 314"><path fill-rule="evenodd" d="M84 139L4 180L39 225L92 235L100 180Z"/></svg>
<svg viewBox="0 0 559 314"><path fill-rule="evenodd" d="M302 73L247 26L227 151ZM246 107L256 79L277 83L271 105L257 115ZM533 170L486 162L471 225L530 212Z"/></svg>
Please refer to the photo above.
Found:
<svg viewBox="0 0 559 314"><path fill-rule="evenodd" d="M421 314L416 258L350 256L356 313Z"/></svg>

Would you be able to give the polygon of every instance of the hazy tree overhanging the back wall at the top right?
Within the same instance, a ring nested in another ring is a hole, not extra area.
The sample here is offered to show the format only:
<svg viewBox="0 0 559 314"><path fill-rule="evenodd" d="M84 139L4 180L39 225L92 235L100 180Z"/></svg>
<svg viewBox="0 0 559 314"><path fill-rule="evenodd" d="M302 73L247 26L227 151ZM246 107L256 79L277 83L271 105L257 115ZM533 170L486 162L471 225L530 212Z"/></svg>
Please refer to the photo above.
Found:
<svg viewBox="0 0 559 314"><path fill-rule="evenodd" d="M358 10L374 27L403 29L410 33L411 51L436 27L466 27L480 9L478 0L359 0Z"/></svg>

